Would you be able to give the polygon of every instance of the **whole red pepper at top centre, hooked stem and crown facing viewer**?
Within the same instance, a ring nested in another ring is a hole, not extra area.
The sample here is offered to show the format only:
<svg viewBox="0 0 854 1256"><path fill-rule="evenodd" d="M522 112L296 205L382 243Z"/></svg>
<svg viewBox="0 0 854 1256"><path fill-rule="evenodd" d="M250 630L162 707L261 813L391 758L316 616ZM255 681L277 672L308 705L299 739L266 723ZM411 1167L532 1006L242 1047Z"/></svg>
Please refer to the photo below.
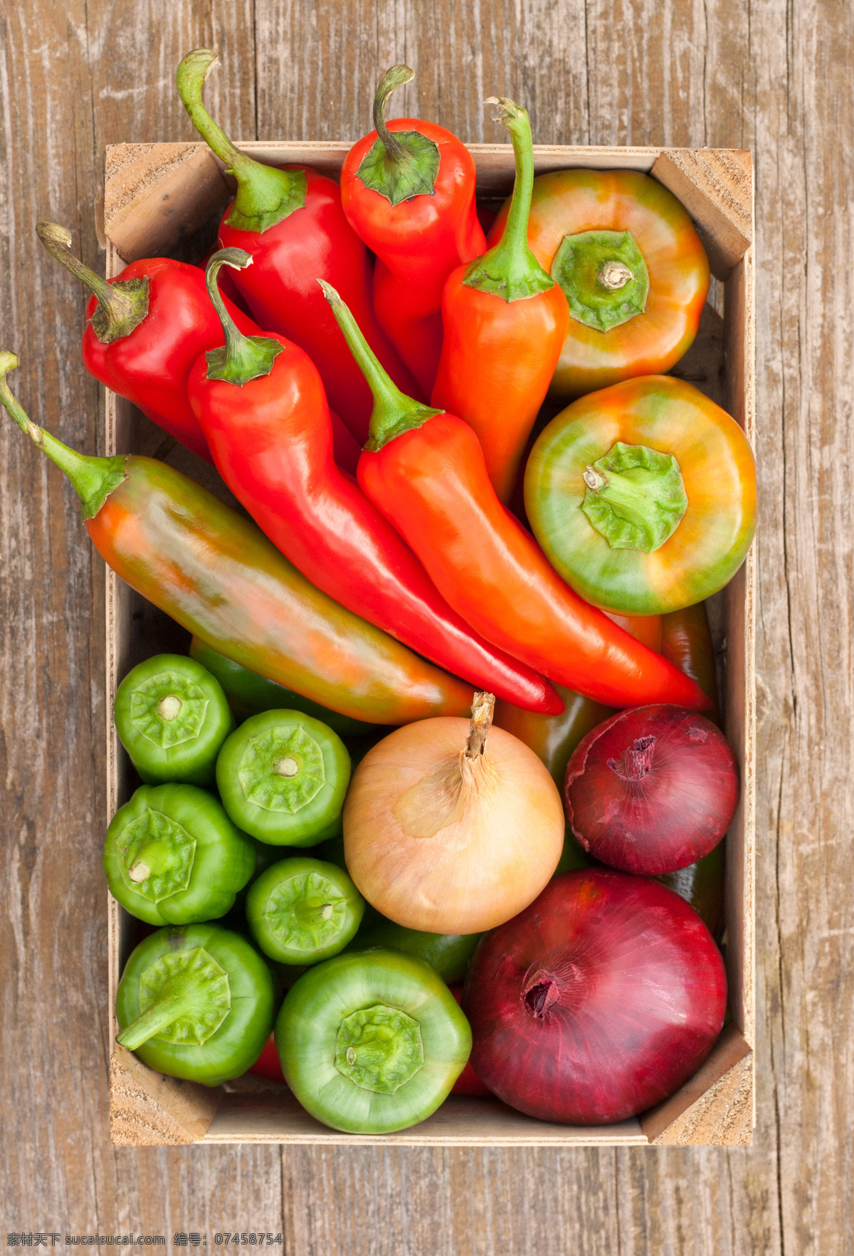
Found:
<svg viewBox="0 0 854 1256"><path fill-rule="evenodd" d="M408 65L383 74L376 131L353 144L340 177L344 214L377 255L377 319L427 397L442 352L445 280L486 252L486 236L475 207L475 162L462 141L421 118L383 119L391 93L413 77Z"/></svg>

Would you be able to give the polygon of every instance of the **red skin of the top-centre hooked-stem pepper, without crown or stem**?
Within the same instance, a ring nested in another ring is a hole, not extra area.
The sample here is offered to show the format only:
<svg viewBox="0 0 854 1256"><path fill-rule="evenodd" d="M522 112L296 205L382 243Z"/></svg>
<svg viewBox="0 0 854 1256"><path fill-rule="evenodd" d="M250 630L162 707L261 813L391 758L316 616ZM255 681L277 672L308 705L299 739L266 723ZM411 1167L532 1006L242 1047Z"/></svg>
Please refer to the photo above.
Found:
<svg viewBox="0 0 854 1256"><path fill-rule="evenodd" d="M377 319L422 387L430 391L442 353L442 288L451 271L486 252L475 206L475 162L455 134L421 118L394 118L391 132L418 131L438 148L433 195L392 205L358 176L377 132L353 144L342 167L342 203L362 240L377 255L373 300Z"/></svg>

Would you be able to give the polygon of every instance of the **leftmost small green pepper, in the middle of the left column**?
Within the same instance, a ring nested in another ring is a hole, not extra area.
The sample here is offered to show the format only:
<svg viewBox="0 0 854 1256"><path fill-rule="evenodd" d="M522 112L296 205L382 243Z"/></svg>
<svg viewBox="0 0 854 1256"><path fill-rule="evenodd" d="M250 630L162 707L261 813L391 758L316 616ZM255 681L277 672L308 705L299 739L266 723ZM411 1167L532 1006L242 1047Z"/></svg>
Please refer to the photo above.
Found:
<svg viewBox="0 0 854 1256"><path fill-rule="evenodd" d="M255 870L249 838L196 785L143 785L107 829L113 898L148 924L225 916Z"/></svg>

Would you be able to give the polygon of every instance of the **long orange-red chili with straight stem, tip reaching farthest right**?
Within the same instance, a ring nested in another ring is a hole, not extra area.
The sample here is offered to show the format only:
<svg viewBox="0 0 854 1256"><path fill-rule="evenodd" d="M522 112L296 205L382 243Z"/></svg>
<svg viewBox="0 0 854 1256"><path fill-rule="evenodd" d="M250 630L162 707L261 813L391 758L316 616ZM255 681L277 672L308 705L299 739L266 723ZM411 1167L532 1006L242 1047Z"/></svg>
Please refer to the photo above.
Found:
<svg viewBox="0 0 854 1256"><path fill-rule="evenodd" d="M359 484L455 610L529 667L605 706L707 710L695 681L564 584L499 501L468 423L404 397L338 294L324 291L374 396Z"/></svg>

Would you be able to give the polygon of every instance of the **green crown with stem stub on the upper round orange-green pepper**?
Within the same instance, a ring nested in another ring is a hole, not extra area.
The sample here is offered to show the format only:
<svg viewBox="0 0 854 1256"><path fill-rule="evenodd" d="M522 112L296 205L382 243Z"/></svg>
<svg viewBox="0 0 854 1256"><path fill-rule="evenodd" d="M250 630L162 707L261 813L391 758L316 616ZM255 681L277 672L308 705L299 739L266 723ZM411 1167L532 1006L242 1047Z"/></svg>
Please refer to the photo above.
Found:
<svg viewBox="0 0 854 1256"><path fill-rule="evenodd" d="M564 236L551 264L578 323L610 332L643 314L649 275L630 231L581 231Z"/></svg>

